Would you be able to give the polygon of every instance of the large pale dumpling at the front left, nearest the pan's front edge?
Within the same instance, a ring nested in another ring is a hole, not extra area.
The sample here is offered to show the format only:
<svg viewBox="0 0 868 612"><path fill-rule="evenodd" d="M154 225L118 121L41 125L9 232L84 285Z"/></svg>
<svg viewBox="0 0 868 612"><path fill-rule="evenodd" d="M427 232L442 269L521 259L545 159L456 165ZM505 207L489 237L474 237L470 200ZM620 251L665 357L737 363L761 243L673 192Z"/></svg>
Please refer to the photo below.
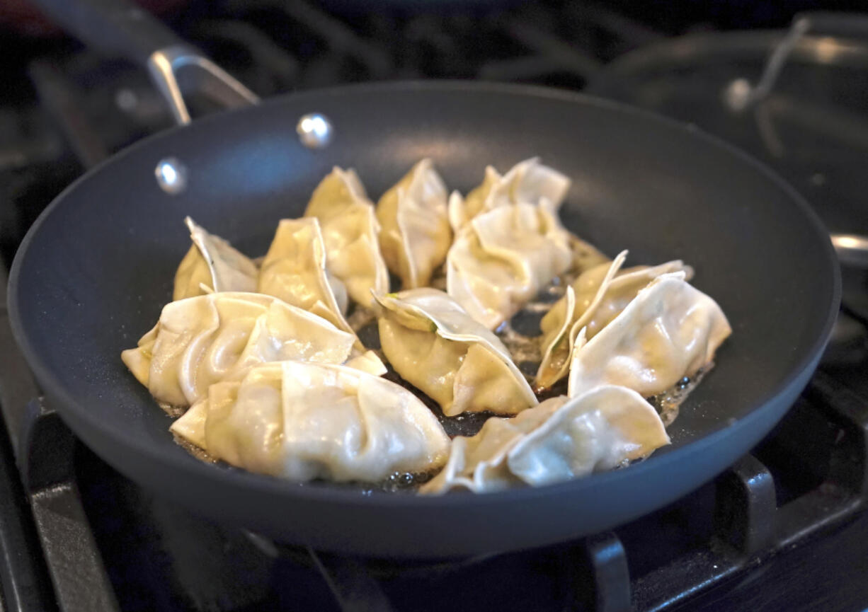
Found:
<svg viewBox="0 0 868 612"><path fill-rule="evenodd" d="M393 382L344 366L278 361L220 382L173 433L215 459L295 482L378 482L444 465L450 439Z"/></svg>

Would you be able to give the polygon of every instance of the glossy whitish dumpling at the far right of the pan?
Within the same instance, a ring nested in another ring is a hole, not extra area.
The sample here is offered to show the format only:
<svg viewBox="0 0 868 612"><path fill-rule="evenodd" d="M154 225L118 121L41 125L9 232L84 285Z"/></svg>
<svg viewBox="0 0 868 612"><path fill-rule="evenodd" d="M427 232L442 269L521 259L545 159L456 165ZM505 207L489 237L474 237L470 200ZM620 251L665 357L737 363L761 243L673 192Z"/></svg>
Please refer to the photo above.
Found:
<svg viewBox="0 0 868 612"><path fill-rule="evenodd" d="M731 333L720 306L688 284L685 272L661 275L587 343L579 333L569 394L607 384L660 394L711 363Z"/></svg>

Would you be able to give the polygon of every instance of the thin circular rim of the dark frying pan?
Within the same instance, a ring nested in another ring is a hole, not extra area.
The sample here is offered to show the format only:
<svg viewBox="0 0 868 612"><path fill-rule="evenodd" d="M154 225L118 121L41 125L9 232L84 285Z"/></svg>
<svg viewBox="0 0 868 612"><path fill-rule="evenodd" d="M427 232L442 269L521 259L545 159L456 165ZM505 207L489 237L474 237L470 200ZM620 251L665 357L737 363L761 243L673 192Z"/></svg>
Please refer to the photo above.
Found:
<svg viewBox="0 0 868 612"><path fill-rule="evenodd" d="M115 428L107 425L95 416L90 416L92 413L90 413L85 407L82 407L79 402L63 388L62 382L52 374L51 368L49 368L40 358L39 352L31 344L29 337L24 330L22 318L23 308L19 307L20 296L18 284L23 267L23 261L30 251L30 244L36 238L36 234L38 234L45 219L49 217L51 212L54 211L57 206L61 205L62 202L67 199L70 192L77 190L78 187L83 182L89 180L91 176L94 176L97 173L102 173L103 169L107 166L122 163L129 154L138 151L140 148L150 146L150 144L156 140L172 137L175 133L179 133L186 129L207 126L211 121L221 120L225 116L225 113L220 113L210 115L201 120L196 120L192 126L174 127L161 133L155 133L143 140L139 140L132 146L128 146L122 151L115 153L115 155L111 156L108 160L102 161L102 163L90 169L89 172L84 173L81 177L63 189L62 192L60 192L39 215L39 217L36 218L36 221L31 225L30 230L23 238L10 270L9 296L7 302L10 324L16 342L19 348L21 348L29 367L33 370L36 380L43 386L46 394L49 396L49 400L56 400L56 409L58 413L60 413L61 416L64 416L65 413L69 411L70 420L86 421L95 432L99 432L99 435L102 436L103 439L112 439L115 443L122 443L130 451L136 452L143 460L155 462L155 465L171 467L175 471L184 470L190 476L197 479L206 479L216 486L231 486L240 491L253 488L268 495L287 496L287 498L304 498L306 501L312 502L339 503L341 505L350 506L355 505L369 510L377 507L394 506L406 507L408 509L425 507L427 509L442 508L444 510L449 510L455 506L467 507L470 505L471 507L478 508L489 505L500 506L503 504L520 504L535 498L556 496L561 492L575 492L578 489L588 488L589 486L604 485L608 482L614 482L615 480L626 478L625 474L630 473L634 474L635 478L641 478L641 476L636 472L647 472L651 469L656 470L662 468L663 464L672 464L675 461L680 461L685 456L693 454L694 452L701 452L705 446L713 445L716 439L726 435L727 429L730 426L748 423L753 419L761 418L762 413L765 412L764 408L773 403L776 398L786 394L788 390L792 390L792 387L802 385L804 382L802 379L805 377L806 370L812 370L812 368L816 366L816 363L819 361L819 357L825 348L825 344L828 342L829 336L831 335L832 326L838 316L838 303L840 301L840 270L838 268L837 259L834 255L832 242L829 238L828 231L825 230L825 226L820 221L819 216L813 211L806 199L804 199L794 187L787 183L785 179L780 178L779 175L774 173L768 166L759 160L755 160L737 146L734 146L725 140L721 140L712 134L705 133L698 127L682 124L677 120L641 108L631 107L621 102L605 100L593 95L578 92L513 83L493 83L484 81L387 81L352 84L280 95L264 101L259 106L278 106L284 104L288 99L292 99L293 101L304 101L306 98L315 99L323 96L345 95L347 93L359 94L383 91L454 91L470 92L473 94L503 94L526 99L542 98L565 101L584 106L606 108L613 110L616 113L641 116L644 118L643 120L654 122L661 127L675 130L677 132L690 133L692 134L691 138L704 140L709 146L723 150L728 155L739 159L741 163L753 166L753 171L755 173L759 173L766 180L771 181L774 186L784 192L792 201L793 205L795 205L796 208L805 215L812 230L817 234L819 241L818 246L822 248L823 256L827 263L831 264L832 292L829 296L828 310L825 315L825 322L822 326L822 333L814 340L811 348L806 351L806 354L801 360L799 360L797 366L792 368L791 373L787 375L783 381L780 381L776 387L766 394L766 396L755 400L750 412L746 413L746 415L742 416L740 419L732 422L721 421L702 438L688 442L684 446L673 449L671 452L652 456L645 461L630 466L626 470L615 470L613 472L592 474L591 476L582 479L573 479L553 485L523 487L503 492L491 492L485 494L467 493L457 495L421 496L415 494L374 492L374 494L367 496L359 494L358 491L347 491L337 487L330 487L328 485L297 485L286 480L268 477L253 472L246 472L238 468L224 469L219 467L218 469L215 469L214 466L202 463L192 457L190 458L190 461L176 461L174 460L174 457L168 457L167 455L161 454L161 452L158 452L159 449L155 446L151 446L147 442L144 442L133 435L130 435L127 438L118 436ZM227 113L245 114L256 112L257 110L258 107L244 107L227 111ZM85 439L85 441L89 438L88 435L83 435L81 437L82 439ZM109 461L109 463L112 463L112 461ZM711 478L711 476L712 475L709 475L709 478Z"/></svg>

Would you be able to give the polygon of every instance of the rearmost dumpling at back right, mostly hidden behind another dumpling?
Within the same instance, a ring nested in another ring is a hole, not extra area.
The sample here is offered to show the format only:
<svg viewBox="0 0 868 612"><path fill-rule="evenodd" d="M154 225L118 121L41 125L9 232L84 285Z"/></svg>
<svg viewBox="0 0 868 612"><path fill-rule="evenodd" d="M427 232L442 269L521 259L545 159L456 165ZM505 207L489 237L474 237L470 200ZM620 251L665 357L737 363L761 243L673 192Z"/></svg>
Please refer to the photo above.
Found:
<svg viewBox="0 0 868 612"><path fill-rule="evenodd" d="M459 231L477 215L498 206L510 204L538 204L548 199L555 211L569 192L570 180L539 158L520 161L501 176L494 167L485 168L483 183L471 190L467 198L452 192L449 198L449 222Z"/></svg>

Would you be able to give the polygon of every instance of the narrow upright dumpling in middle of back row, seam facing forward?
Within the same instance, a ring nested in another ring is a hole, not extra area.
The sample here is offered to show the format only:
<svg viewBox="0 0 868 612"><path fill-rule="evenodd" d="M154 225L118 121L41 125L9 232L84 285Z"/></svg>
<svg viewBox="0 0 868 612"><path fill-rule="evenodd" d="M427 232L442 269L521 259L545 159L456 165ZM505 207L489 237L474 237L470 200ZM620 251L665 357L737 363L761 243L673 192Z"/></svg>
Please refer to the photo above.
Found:
<svg viewBox="0 0 868 612"><path fill-rule="evenodd" d="M377 204L380 248L402 289L424 287L443 264L452 241L446 213L446 186L431 160L424 159L383 194Z"/></svg>

